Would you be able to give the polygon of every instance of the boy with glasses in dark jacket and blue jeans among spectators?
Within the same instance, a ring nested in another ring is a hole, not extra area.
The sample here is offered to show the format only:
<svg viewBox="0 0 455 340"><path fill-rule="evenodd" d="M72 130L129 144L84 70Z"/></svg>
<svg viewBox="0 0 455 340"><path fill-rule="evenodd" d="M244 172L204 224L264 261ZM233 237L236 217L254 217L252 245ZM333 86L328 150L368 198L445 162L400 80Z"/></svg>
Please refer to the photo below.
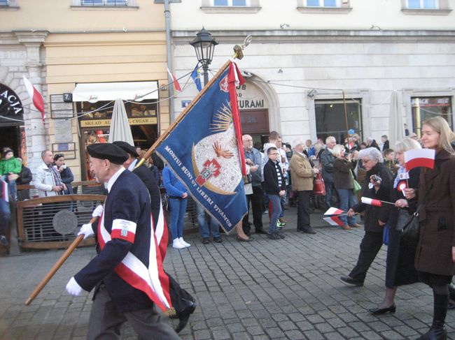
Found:
<svg viewBox="0 0 455 340"><path fill-rule="evenodd" d="M286 180L281 172L280 160L281 154L276 147L269 147L267 149L267 156L269 160L264 165L264 182L262 182L262 189L272 202L272 212L270 214L270 224L267 237L270 239L283 239L283 232L276 228L276 221L281 214L281 196L286 193Z"/></svg>

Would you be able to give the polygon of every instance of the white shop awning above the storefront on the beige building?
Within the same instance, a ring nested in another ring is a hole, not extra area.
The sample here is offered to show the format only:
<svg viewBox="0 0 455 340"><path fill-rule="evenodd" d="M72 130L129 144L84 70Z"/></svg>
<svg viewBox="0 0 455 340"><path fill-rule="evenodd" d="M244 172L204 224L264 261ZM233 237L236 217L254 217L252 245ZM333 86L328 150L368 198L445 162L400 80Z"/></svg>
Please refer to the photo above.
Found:
<svg viewBox="0 0 455 340"><path fill-rule="evenodd" d="M77 84L73 101L145 101L158 99L158 82L92 82Z"/></svg>

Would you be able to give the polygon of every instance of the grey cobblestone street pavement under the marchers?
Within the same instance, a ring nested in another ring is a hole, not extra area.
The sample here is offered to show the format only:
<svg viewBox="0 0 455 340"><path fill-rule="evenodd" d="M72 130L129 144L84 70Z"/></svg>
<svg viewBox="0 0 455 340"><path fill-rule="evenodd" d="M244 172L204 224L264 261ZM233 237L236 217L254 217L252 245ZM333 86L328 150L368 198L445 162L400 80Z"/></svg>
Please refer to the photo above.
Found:
<svg viewBox="0 0 455 340"><path fill-rule="evenodd" d="M365 286L339 281L356 263L363 228L344 231L311 215L316 235L295 231L295 209L286 212L286 239L255 236L253 242L223 237L222 244L186 240L169 248L165 267L198 307L182 339L416 339L433 314L433 295L423 284L398 289L397 311L372 316L384 297L386 247ZM264 215L264 221L266 216ZM92 294L71 297L66 282L94 256L78 249L29 306L24 302L62 251L34 251L0 258L0 339L85 339ZM176 320L163 318L176 325ZM447 317L455 339L455 311ZM136 339L125 326L122 339Z"/></svg>

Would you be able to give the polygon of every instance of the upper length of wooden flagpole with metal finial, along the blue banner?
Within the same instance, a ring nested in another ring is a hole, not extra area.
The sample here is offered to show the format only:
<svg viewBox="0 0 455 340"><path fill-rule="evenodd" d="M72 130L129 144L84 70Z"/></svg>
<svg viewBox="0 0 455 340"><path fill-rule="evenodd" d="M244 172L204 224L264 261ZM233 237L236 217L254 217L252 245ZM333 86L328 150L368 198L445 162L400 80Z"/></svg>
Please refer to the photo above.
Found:
<svg viewBox="0 0 455 340"><path fill-rule="evenodd" d="M242 51L244 50L244 48L246 46L249 45L250 42L251 42L251 36L247 36L245 38L245 40L244 40L243 45L235 45L234 46L234 54L232 55L232 59L241 59L241 58L243 58L244 54L243 54ZM167 138L167 136L169 136L169 134L172 132L172 130L174 130L174 128L176 128L176 126L178 126L180 124L180 122L183 120L183 118L185 118L186 114L188 114L188 112L193 108L193 106L196 105L196 103L200 100L200 98L211 87L211 84L213 84L218 79L218 77L221 75L221 73L223 73L225 71L225 69L229 66L230 62L231 61L228 60L228 61L226 61L223 64L223 66L221 66L221 68L218 70L216 75L214 75L214 77L212 77L211 80L209 80L209 82L204 86L202 91L200 91L200 93L197 94L197 96L195 96L193 101L191 101L191 103L181 112L181 114L179 114L179 117L177 117L172 122L172 124L169 125L169 127L166 129L165 133L160 135L158 140L155 140L153 145L146 151L144 156L142 156L142 158L139 160L139 162L137 162L137 165L134 168L138 168L139 166L141 166L146 161L146 159L148 159L150 156L152 156L153 151L155 151L155 149L158 146L160 146L160 144L163 142L163 140L165 140Z"/></svg>

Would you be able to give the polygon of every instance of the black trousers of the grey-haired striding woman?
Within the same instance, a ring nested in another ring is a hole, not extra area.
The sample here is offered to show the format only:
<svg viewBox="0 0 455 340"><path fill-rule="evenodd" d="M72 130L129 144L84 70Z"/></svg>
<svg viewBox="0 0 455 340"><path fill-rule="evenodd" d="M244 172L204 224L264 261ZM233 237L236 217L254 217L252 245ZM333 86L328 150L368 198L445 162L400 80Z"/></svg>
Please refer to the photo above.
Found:
<svg viewBox="0 0 455 340"><path fill-rule="evenodd" d="M365 280L370 265L376 258L382 246L382 232L365 231L362 242L360 242L360 253L358 254L357 265L349 274L356 280Z"/></svg>

